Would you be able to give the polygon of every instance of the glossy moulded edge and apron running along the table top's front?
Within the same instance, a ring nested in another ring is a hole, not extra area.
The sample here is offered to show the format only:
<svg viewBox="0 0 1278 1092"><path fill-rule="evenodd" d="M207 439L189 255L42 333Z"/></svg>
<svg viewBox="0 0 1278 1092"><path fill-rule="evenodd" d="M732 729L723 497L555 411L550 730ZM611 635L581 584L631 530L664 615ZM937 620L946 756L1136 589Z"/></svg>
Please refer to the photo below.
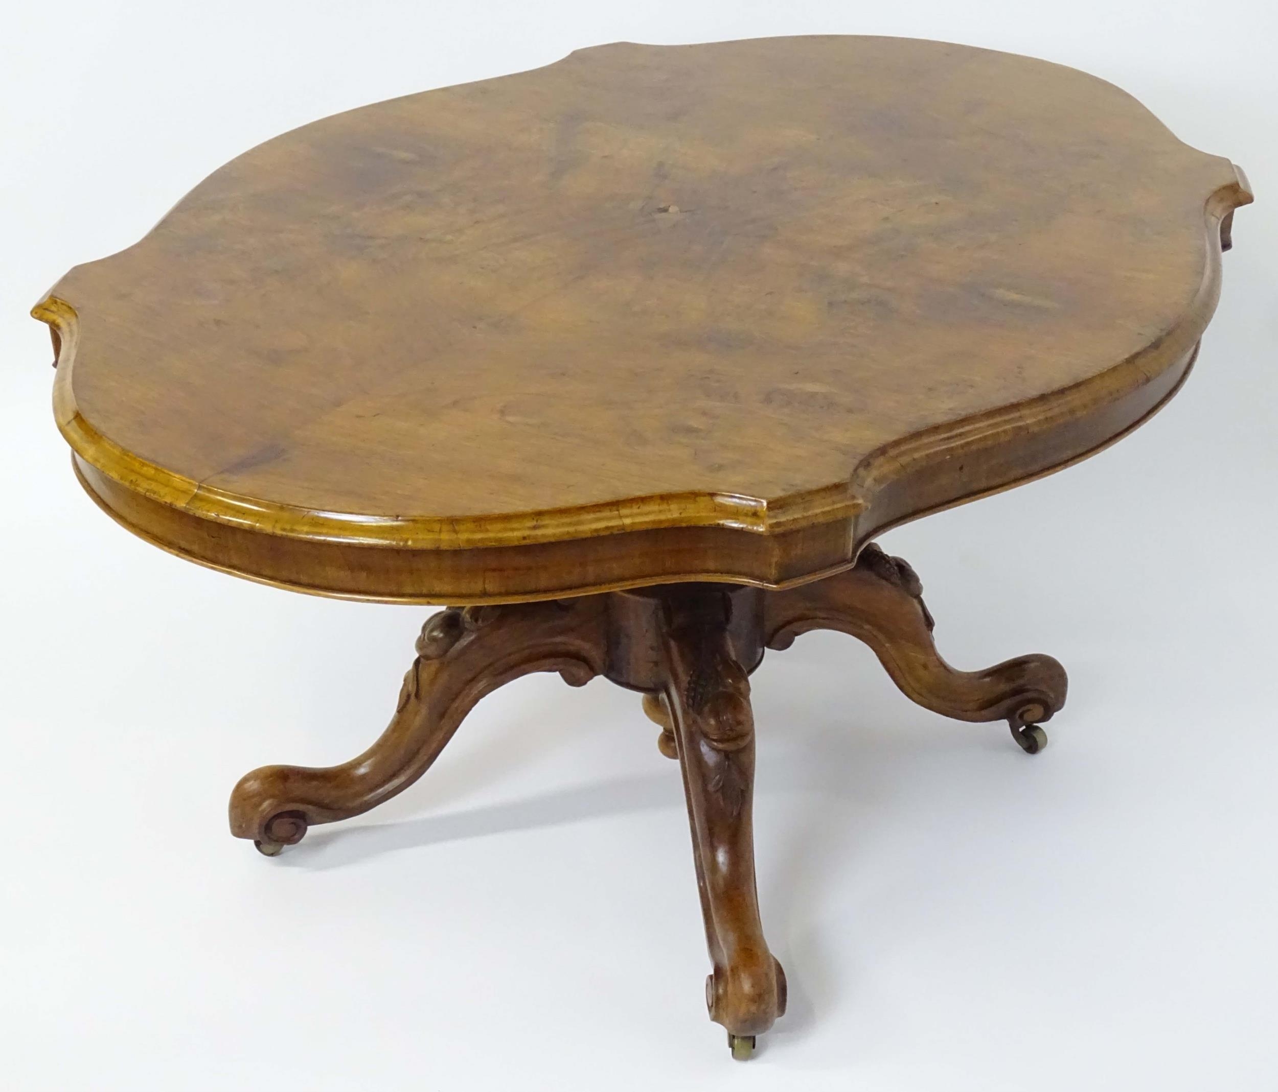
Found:
<svg viewBox="0 0 1278 1092"><path fill-rule="evenodd" d="M1215 308L1222 222L1252 199L1235 172L1205 203L1205 263L1192 304L1140 353L1062 391L887 444L847 483L772 502L663 494L550 512L380 520L238 497L101 436L72 391L74 309L50 296L32 314L52 330L54 411L84 488L135 534L202 565L299 591L399 603L512 602L677 580L786 588L851 565L889 526L1085 459L1155 413L1183 382Z"/></svg>

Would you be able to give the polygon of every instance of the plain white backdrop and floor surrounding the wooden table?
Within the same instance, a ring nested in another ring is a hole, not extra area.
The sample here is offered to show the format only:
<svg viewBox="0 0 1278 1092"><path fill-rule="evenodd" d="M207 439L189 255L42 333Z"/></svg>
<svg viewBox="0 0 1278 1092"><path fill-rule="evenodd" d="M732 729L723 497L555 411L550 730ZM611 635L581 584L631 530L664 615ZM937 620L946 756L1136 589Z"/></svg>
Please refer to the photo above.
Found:
<svg viewBox="0 0 1278 1092"><path fill-rule="evenodd" d="M893 531L942 651L1070 671L1052 746L946 722L850 639L755 676L790 1013L705 1019L676 768L638 699L535 677L390 805L268 861L236 778L340 761L424 609L130 538L75 485L27 309L322 115L615 40L946 38L1111 79L1249 171L1195 374L1047 480ZM0 1088L1278 1087L1278 17L1269 0L87 3L0 15Z"/></svg>

